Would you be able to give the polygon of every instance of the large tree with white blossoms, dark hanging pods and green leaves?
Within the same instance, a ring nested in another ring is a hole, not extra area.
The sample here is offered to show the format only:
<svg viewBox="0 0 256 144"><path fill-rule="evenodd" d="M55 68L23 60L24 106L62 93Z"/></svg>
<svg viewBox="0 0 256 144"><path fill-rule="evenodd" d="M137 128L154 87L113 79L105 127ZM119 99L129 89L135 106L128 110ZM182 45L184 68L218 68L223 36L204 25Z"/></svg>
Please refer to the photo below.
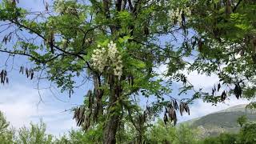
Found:
<svg viewBox="0 0 256 144"><path fill-rule="evenodd" d="M221 22L233 18L230 1L221 3L214 11L212 6L216 2L208 5L205 0L58 0L51 5L45 2L43 12L24 10L17 3L15 0L1 3L0 20L6 35L0 52L28 57L32 64L20 66L21 74L54 82L70 96L90 79L93 88L87 92L84 105L74 108L74 118L85 131L103 130L103 143L115 143L117 132L126 130L130 124L137 131L135 141L142 143L154 117L163 114L165 122L175 124L177 112L190 114L189 103L196 98L217 103L223 102L228 94L240 98L243 93L252 98L255 93L254 57L250 57L253 51L246 50L246 57L236 59L233 56L238 54L237 49L227 47L246 36L243 29L238 38L226 35L230 32L227 24L225 34L212 34L222 31L217 29L219 23L214 22L218 17ZM250 10L238 3L250 6ZM243 24L252 18L242 14L254 14L254 2L238 3L233 9L241 13L238 17L241 16ZM222 14L226 6L227 17ZM211 14L209 19L205 18L205 11ZM232 28L236 28L235 22ZM246 30L254 27L249 23ZM190 38L190 31L197 34ZM167 38L166 42L162 38ZM219 42L220 38L224 42ZM10 39L14 41L12 47ZM182 45L175 46L178 42ZM191 57L195 57L192 62L185 60ZM167 66L167 73L159 74L155 68L162 65ZM219 69L221 66L224 68ZM233 70L234 66L237 69ZM212 94L195 90L182 73L184 70L217 73L222 85L219 82L214 86ZM162 76L170 79L164 81ZM182 82L178 95L187 91L194 94L182 100L173 97L174 81ZM4 69L1 83L8 82ZM218 94L219 90L222 94ZM141 97L154 102L142 108L138 105Z"/></svg>

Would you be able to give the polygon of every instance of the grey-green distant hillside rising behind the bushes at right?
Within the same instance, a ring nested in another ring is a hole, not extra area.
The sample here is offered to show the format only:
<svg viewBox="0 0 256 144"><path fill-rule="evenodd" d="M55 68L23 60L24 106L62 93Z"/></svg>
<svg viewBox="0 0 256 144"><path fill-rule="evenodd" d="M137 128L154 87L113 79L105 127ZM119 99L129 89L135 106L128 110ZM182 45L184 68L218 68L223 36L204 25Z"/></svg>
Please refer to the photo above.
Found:
<svg viewBox="0 0 256 144"><path fill-rule="evenodd" d="M236 133L240 129L237 123L238 117L246 115L250 121L256 121L256 110L248 110L245 107L246 105L233 106L186 123L200 129L202 137L218 135L225 131Z"/></svg>

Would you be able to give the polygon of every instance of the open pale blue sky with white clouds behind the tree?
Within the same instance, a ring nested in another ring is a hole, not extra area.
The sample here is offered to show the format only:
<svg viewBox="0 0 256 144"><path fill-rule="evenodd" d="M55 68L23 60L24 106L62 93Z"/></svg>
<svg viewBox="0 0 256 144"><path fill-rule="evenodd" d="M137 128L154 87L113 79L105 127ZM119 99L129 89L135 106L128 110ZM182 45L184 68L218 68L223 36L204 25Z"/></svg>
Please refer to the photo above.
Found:
<svg viewBox="0 0 256 144"><path fill-rule="evenodd" d="M52 2L51 0L48 1ZM42 0L20 0L19 6L34 11L44 10ZM1 37L2 34L0 34L0 40ZM6 54L0 54L0 70L4 68L6 58ZM90 88L90 85L84 86L81 90L76 90L71 98L67 94L59 93L57 89L53 89L54 94L50 90L40 90L43 100L43 102L40 102L40 96L36 89L37 82L28 80L25 75L18 74L19 66L26 62L26 58L18 56L14 60L14 70L9 73L10 84L5 86L0 85L0 110L4 112L12 126L15 128L29 126L30 122L38 122L42 118L43 122L46 122L47 132L56 136L67 132L71 128L77 129L78 127L75 126L75 122L72 120L73 114L69 111L65 112L65 110L82 104L83 95L86 94L86 90ZM8 70L10 70L12 60L10 59L7 64L9 65ZM164 72L166 66L160 66L156 70ZM216 75L209 77L193 72L186 74L186 76L196 86L196 89L203 87L207 90L218 82ZM49 85L49 82L42 82L41 84L42 87ZM176 83L176 85L179 84ZM218 106L211 106L210 103L198 100L190 106L190 116L184 115L183 117L179 117L179 121L182 122L190 118L198 118L214 111L245 103L248 103L248 101L237 100L234 97L230 98L226 104L221 103Z"/></svg>

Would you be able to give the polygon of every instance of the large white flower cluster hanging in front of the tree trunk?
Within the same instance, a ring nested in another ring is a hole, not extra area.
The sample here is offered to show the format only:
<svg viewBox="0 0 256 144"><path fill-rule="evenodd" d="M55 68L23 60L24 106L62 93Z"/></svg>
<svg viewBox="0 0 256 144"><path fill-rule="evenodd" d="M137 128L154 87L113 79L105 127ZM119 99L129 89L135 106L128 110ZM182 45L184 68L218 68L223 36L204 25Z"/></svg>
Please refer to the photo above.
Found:
<svg viewBox="0 0 256 144"><path fill-rule="evenodd" d="M118 48L114 42L107 45L107 49L98 45L98 49L92 54L92 66L103 72L106 66L114 70L114 75L120 79L122 76L122 57L118 52Z"/></svg>

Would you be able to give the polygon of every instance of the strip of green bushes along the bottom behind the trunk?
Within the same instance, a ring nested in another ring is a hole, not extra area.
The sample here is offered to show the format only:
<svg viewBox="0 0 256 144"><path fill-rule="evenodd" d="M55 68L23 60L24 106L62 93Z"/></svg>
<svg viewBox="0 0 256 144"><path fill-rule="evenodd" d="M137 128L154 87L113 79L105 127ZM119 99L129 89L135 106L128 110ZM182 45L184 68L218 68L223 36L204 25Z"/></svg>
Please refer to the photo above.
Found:
<svg viewBox="0 0 256 144"><path fill-rule="evenodd" d="M46 125L40 121L39 124L30 124L30 128L23 126L15 133L15 130L8 128L9 122L6 122L1 113L1 143L13 144L13 143L39 143L39 144L76 144L76 143L102 143L102 129L90 130L84 132L82 130L70 130L68 134L64 134L60 138L54 138L50 134L46 134ZM162 120L154 123L149 131L146 131L146 143L174 143L174 144L231 144L231 143L254 143L255 142L255 122L247 122L238 134L223 133L217 137L199 138L198 135L201 133L200 130L191 128L187 124L179 124L174 126L173 123L168 122L165 124ZM118 134L117 143L129 143L132 141L135 135L129 134L136 130L126 130L123 132L126 134ZM98 131L98 133L95 133ZM129 138L128 138L129 137Z"/></svg>

